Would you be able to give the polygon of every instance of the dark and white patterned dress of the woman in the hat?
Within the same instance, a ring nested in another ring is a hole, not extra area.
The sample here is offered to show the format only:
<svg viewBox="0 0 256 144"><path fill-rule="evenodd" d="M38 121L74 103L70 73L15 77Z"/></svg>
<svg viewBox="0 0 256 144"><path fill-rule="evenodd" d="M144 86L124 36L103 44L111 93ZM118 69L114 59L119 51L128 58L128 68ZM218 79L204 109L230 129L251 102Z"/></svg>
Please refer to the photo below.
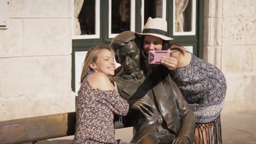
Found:
<svg viewBox="0 0 256 144"><path fill-rule="evenodd" d="M212 122L219 117L226 80L217 67L192 54L189 65L171 70L170 75L194 111L196 123Z"/></svg>

